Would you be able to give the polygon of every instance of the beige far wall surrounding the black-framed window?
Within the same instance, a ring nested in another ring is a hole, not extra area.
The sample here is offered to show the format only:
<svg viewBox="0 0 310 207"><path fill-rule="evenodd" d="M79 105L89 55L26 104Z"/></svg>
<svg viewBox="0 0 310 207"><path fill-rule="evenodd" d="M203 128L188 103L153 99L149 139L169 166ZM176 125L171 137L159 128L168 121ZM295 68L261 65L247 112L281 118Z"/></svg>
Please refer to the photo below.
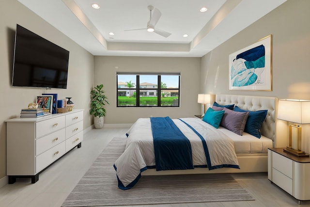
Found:
<svg viewBox="0 0 310 207"><path fill-rule="evenodd" d="M140 117L193 117L200 113L197 103L200 92L201 58L114 57L95 56L95 84L104 84L110 105L106 106L106 124L134 123ZM117 108L116 72L180 72L181 94L178 108Z"/></svg>

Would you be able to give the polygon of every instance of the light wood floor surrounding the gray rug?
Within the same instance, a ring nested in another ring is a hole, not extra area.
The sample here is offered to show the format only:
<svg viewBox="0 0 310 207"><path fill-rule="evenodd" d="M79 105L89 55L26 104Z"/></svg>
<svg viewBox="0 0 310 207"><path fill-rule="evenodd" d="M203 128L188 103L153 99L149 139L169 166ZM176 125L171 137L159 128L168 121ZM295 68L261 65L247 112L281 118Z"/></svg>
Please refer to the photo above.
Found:
<svg viewBox="0 0 310 207"><path fill-rule="evenodd" d="M81 148L75 148L39 175L0 188L0 207L60 207L80 178L113 137L125 137L128 128L92 129L84 135ZM272 184L266 173L232 174L255 201L152 205L152 207L295 207L298 202ZM310 207L310 201L301 202ZM145 207L145 206L137 206Z"/></svg>

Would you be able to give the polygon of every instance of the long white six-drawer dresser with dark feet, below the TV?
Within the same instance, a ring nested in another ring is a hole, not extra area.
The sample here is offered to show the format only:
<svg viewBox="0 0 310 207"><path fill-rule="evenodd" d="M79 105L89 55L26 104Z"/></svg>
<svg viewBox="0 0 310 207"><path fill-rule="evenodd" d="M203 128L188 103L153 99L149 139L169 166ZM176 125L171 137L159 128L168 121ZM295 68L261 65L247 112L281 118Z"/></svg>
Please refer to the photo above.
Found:
<svg viewBox="0 0 310 207"><path fill-rule="evenodd" d="M83 141L83 110L5 122L9 184L19 177L35 183L40 172Z"/></svg>

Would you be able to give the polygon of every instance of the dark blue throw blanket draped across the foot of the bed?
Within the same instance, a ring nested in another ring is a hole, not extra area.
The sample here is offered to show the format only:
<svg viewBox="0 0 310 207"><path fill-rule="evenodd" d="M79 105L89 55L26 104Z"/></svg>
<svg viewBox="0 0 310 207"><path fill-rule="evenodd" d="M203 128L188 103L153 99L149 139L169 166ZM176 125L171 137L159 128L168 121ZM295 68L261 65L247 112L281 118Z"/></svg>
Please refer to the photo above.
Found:
<svg viewBox="0 0 310 207"><path fill-rule="evenodd" d="M194 169L189 140L170 117L151 117L156 171Z"/></svg>

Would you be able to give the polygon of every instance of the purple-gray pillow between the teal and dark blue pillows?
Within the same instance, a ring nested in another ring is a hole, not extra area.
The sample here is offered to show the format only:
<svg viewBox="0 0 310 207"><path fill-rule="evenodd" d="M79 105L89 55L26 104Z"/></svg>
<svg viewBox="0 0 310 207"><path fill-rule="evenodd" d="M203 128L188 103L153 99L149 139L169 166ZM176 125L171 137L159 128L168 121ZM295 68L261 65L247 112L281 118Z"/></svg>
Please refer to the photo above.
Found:
<svg viewBox="0 0 310 207"><path fill-rule="evenodd" d="M225 112L220 126L242 136L244 128L246 127L249 112L233 111L227 108L224 108L223 111Z"/></svg>

